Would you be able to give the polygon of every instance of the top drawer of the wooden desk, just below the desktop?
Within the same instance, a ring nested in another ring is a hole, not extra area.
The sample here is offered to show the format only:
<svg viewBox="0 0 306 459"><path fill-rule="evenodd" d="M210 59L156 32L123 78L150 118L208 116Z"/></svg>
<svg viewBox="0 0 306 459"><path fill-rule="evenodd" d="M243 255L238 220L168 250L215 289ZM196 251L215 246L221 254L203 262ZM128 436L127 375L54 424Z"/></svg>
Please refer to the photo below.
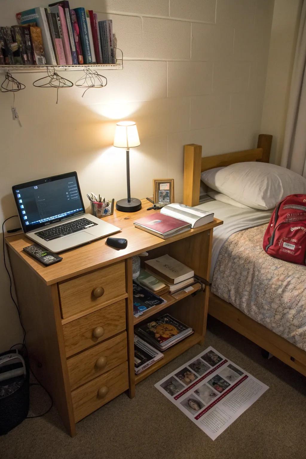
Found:
<svg viewBox="0 0 306 459"><path fill-rule="evenodd" d="M62 318L102 305L125 293L124 261L59 284Z"/></svg>

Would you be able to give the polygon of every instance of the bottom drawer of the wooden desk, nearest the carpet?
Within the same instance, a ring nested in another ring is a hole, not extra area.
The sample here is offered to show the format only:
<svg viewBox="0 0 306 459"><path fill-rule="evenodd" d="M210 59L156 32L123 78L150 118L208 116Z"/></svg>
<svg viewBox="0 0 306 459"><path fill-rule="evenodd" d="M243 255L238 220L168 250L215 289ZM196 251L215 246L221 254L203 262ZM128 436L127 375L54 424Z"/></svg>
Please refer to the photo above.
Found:
<svg viewBox="0 0 306 459"><path fill-rule="evenodd" d="M128 389L128 362L71 392L76 422Z"/></svg>

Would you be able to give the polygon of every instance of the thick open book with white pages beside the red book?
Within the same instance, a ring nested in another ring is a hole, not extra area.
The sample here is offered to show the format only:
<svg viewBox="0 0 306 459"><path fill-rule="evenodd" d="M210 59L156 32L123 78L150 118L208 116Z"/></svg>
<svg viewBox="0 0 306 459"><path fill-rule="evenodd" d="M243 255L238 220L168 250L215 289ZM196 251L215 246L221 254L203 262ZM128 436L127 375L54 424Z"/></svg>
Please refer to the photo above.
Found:
<svg viewBox="0 0 306 459"><path fill-rule="evenodd" d="M179 218L187 223L191 224L191 228L197 228L198 226L210 223L214 219L213 212L207 212L206 210L197 209L196 207L185 206L178 202L173 204L167 204L161 208L161 213L169 215L169 217Z"/></svg>

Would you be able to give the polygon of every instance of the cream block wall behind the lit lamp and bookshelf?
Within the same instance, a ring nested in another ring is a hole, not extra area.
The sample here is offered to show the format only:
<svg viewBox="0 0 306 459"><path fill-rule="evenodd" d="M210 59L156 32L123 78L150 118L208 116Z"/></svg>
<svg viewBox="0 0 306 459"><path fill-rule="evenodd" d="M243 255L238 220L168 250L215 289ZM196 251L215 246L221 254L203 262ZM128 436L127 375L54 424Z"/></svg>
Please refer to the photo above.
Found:
<svg viewBox="0 0 306 459"><path fill-rule="evenodd" d="M123 71L103 72L106 88L34 88L41 73L18 73L22 128L11 117L11 94L0 94L0 221L16 213L11 185L71 170L84 202L95 191L126 196L125 152L112 147L117 120L137 122L141 145L131 151L134 197L152 195L153 178L174 178L183 194L183 146L213 155L256 146L267 71L273 0L83 0L110 17ZM1 0L1 25L33 0ZM42 4L43 6L47 5ZM79 6L70 1L70 6ZM107 13L107 14L106 14ZM79 72L62 73L75 82ZM17 219L6 228L16 227ZM0 351L20 341L17 314L0 264ZM44 305L41 305L42 308Z"/></svg>

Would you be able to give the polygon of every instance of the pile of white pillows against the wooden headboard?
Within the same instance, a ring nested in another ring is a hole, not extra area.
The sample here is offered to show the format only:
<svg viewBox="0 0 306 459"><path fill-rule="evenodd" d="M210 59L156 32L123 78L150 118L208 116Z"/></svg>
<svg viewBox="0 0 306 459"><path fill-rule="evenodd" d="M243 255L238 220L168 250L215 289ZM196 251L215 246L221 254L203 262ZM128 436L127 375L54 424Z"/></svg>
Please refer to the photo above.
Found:
<svg viewBox="0 0 306 459"><path fill-rule="evenodd" d="M201 180L245 206L273 209L294 193L306 194L306 179L295 172L266 162L238 162L202 172Z"/></svg>

